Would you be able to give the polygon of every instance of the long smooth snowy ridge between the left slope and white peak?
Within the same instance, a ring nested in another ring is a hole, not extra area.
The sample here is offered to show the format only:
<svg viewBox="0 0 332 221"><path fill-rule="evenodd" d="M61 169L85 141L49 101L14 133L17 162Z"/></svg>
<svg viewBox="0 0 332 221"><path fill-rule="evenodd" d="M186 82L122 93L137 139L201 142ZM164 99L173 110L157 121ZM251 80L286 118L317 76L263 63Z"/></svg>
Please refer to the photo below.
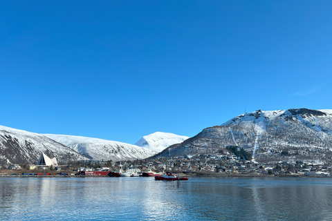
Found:
<svg viewBox="0 0 332 221"><path fill-rule="evenodd" d="M91 160L112 160L113 162L136 160L157 153L148 148L98 138L53 134L44 134L44 136L72 148Z"/></svg>

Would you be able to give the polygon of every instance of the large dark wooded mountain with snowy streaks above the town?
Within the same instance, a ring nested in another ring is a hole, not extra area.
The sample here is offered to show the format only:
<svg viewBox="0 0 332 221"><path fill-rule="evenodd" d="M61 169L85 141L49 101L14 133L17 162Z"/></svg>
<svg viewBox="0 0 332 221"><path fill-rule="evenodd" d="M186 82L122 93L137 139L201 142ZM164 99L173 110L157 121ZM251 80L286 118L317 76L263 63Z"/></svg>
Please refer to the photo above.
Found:
<svg viewBox="0 0 332 221"><path fill-rule="evenodd" d="M332 110L245 113L156 156L222 153L228 146L245 149L257 162L332 162Z"/></svg>

